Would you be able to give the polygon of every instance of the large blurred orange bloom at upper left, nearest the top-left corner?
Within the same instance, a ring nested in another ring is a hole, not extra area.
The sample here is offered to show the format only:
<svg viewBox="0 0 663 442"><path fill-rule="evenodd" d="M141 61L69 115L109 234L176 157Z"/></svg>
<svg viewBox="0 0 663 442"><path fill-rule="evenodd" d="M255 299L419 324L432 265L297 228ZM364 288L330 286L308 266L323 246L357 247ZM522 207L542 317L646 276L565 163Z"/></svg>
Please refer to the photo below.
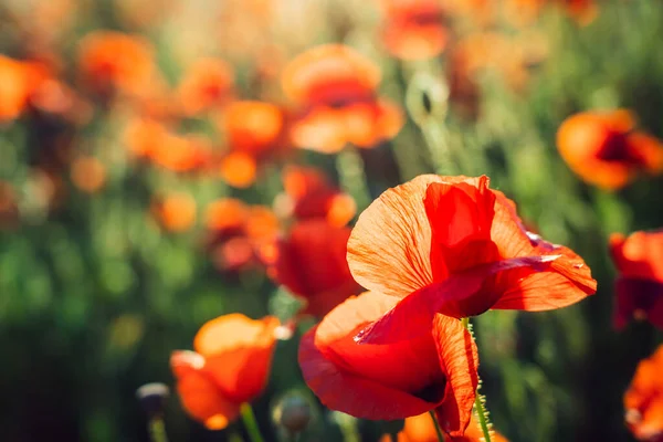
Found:
<svg viewBox="0 0 663 442"><path fill-rule="evenodd" d="M156 75L152 48L137 35L95 31L78 44L78 71L85 85L103 97L141 96Z"/></svg>

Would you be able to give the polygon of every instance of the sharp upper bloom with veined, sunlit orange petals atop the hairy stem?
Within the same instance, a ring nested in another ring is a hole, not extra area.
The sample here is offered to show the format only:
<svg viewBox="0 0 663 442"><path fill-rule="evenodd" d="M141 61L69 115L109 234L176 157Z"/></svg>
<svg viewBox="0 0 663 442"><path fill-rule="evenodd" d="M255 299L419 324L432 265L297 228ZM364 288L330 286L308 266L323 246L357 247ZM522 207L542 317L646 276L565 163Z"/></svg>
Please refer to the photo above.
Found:
<svg viewBox="0 0 663 442"><path fill-rule="evenodd" d="M488 182L485 176L420 176L359 215L348 241L352 275L401 299L361 340L412 336L436 313L548 311L596 292L582 259L527 232L515 203Z"/></svg>

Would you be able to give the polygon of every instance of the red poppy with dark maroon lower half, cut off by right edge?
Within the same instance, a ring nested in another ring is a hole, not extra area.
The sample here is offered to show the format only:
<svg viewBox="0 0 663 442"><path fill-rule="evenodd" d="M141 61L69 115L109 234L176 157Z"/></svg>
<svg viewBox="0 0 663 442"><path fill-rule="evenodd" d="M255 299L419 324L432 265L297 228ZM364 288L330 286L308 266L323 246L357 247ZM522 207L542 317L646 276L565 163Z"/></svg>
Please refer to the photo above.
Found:
<svg viewBox="0 0 663 442"><path fill-rule="evenodd" d="M663 328L663 230L612 234L610 252L619 272L615 327L635 317Z"/></svg>

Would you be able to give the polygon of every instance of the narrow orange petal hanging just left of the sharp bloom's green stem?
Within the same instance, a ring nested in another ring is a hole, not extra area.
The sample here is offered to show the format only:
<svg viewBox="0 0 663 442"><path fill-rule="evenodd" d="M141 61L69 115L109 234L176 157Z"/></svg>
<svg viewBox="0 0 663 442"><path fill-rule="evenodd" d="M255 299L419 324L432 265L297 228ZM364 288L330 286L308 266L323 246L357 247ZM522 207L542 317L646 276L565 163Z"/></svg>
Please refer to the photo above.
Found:
<svg viewBox="0 0 663 442"><path fill-rule="evenodd" d="M478 385L478 351L461 322L435 315L433 337L440 365L446 377L444 400L436 409L440 427L450 435L463 435L470 420Z"/></svg>

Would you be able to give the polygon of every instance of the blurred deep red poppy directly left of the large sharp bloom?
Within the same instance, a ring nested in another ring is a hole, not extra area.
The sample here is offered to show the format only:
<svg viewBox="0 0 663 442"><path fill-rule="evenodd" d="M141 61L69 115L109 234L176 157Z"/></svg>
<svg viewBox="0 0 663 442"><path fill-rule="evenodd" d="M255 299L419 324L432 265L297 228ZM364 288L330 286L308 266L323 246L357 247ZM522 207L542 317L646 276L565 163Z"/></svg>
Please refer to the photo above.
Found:
<svg viewBox="0 0 663 442"><path fill-rule="evenodd" d="M360 291L346 261L349 235L324 220L299 221L277 242L267 273L306 301L304 313L322 317Z"/></svg>

